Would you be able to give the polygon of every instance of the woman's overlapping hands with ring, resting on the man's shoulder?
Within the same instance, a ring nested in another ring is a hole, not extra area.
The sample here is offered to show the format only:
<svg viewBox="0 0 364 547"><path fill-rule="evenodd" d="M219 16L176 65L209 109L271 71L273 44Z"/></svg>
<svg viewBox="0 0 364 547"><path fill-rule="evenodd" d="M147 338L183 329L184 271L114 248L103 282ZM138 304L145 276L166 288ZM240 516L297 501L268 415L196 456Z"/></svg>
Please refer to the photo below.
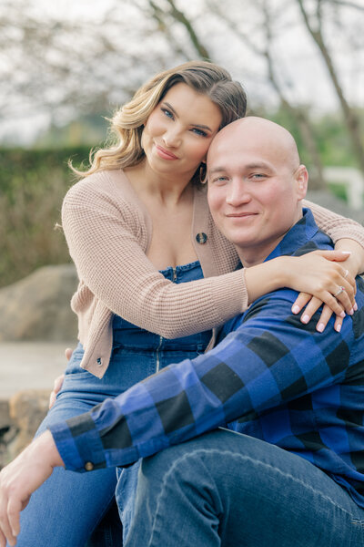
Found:
<svg viewBox="0 0 364 547"><path fill-rule="evenodd" d="M322 263L322 260L317 262L318 257L326 260L327 263ZM342 251L315 251L305 254L300 259L304 263L302 266L304 274L308 275L307 282L312 283L312 286L306 292L298 294L298 298L292 305L292 312L298 314L307 306L301 316L302 323L306 324L319 307L325 304L316 328L319 332L323 332L329 318L335 313L334 328L339 332L345 312L352 315L357 309L355 276L359 273L358 260L352 256L352 253ZM314 262L311 262L312 259Z"/></svg>

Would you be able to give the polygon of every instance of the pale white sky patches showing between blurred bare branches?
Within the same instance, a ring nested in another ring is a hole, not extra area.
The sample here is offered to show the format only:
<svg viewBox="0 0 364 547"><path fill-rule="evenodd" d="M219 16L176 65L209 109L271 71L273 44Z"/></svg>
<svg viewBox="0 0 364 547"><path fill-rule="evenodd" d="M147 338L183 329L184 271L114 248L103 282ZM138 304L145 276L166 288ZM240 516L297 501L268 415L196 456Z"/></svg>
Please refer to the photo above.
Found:
<svg viewBox="0 0 364 547"><path fill-rule="evenodd" d="M163 7L163 0L157 1ZM21 7L22 0L13 0L13 9L16 3L19 3L19 7ZM271 0L271 3L278 6L289 6L290 4L295 5L295 0ZM244 11L242 11L243 4ZM356 0L355 4L362 5L364 8L364 0ZM148 61L150 59L150 48L155 47L157 55L162 57L163 48L166 49L166 43L162 39L159 39L157 35L152 36L152 41L151 36L146 36L144 29L150 28L150 23L142 21L143 15L136 8L136 5L143 5L143 0L136 0L135 3L129 0L56 0L56 2L50 2L49 0L28 0L26 10L27 14L35 17L39 23L59 21L88 24L90 28L90 40L92 40L93 31L97 32L97 26L102 24L106 12L114 10L112 13L114 13L116 20L122 21L123 27L128 28L132 33L130 36L133 36L132 39L134 42L130 41L130 38L127 37L127 48L133 49L134 47L136 51L140 52L138 67L136 68L142 71L145 77L149 77L156 71L155 66L151 67ZM248 91L250 101L253 104L264 104L268 108L274 107L277 103L277 98L268 85L263 60L255 56L231 31L227 31L216 16L212 16L209 13L207 0L188 2L180 0L179 2L177 1L177 5L188 16L192 18L196 17L198 36L207 45L214 60L227 67L233 77L243 82ZM225 0L223 5L224 10L227 10L228 15L233 20L235 19L237 22L243 21L245 28L248 28L249 37L257 46L261 46L262 44L259 44L259 36L262 36L262 29L259 27L260 22L257 19L254 3L250 3L249 5L248 2L241 3L236 0ZM359 25L360 17L364 24L363 15L364 12L362 11L348 9L345 17L340 21L342 32L338 31L338 25L331 25L331 34L327 35L327 40L331 51L334 53L334 60L339 69L340 81L345 89L346 96L352 105L360 108L364 108L363 25ZM318 111L337 109L338 100L332 83L329 81L327 68L324 66L322 58L319 55L318 47L313 43L312 39L308 36L308 32L299 22L298 11L296 10L295 12L292 9L288 9L286 20L283 17L282 21L283 23L280 23L280 30L274 42L273 56L278 60L276 67L278 79L284 87L287 97L295 104L307 103ZM360 27L361 35L358 32ZM349 29L352 29L351 38L349 36ZM120 30L122 29L120 28ZM113 32L115 31L117 32L117 26L113 28ZM185 39L180 29L176 28L175 32L177 39ZM180 33L180 36L178 33ZM115 36L115 38L111 35L111 39L122 40L121 34L120 32L120 36ZM78 37L75 35L74 38L76 45ZM149 56L147 57L146 55L147 59L145 62L143 51L146 51ZM2 57L3 54L4 52L0 50L0 66L1 63L4 64L6 62L4 56ZM191 50L191 57L196 57L193 50ZM76 73L74 77L77 78ZM59 88L58 91L61 96L62 89ZM56 94L57 90L53 89L52 92ZM120 100L117 97L117 93L116 98L112 100L115 100L115 102ZM76 115L76 113L71 115ZM17 100L17 107L15 109L14 107L13 110L8 108L7 113L6 111L2 111L0 115L0 139L2 135L9 134L9 131L16 133L16 128L18 127L21 128L19 136L21 135L24 141L32 139L36 131L49 123L49 119L50 114L47 109L35 108L32 100L20 98L20 100Z"/></svg>

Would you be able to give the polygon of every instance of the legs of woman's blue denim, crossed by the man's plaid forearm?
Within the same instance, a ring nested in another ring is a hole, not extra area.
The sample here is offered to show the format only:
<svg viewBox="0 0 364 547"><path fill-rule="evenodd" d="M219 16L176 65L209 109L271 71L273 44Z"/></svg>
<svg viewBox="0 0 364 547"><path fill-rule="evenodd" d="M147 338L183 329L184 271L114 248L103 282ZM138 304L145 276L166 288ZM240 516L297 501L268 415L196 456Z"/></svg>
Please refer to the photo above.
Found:
<svg viewBox="0 0 364 547"><path fill-rule="evenodd" d="M66 369L66 378L55 406L48 412L36 435L48 425L93 408L116 390L120 372L110 366L101 380L79 366L83 348L77 346ZM87 475L85 477L85 475ZM83 547L115 502L116 470L76 473L56 468L34 492L21 513L17 547ZM121 544L122 529L113 523L104 528L103 547Z"/></svg>

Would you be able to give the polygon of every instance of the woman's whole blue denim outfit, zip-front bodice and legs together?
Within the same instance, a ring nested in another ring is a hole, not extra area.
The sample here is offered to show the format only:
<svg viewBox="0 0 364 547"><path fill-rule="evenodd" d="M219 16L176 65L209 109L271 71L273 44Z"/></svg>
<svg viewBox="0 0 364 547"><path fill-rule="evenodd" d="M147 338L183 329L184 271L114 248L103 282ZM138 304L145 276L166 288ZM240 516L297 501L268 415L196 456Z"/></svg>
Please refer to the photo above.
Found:
<svg viewBox="0 0 364 547"><path fill-rule="evenodd" d="M169 267L161 273L177 284L203 277L199 262L176 268ZM185 358L193 359L205 351L210 336L211 331L206 331L167 340L115 316L113 350L105 376L99 379L79 366L84 353L79 344L66 368L65 381L56 398L56 404L49 411L38 433L51 423L90 410L106 397L116 397L164 366ZM117 500L125 533L134 506L137 469L136 463L126 470L117 470L125 486L118 489L123 494ZM35 491L29 505L22 512L22 532L17 539L17 547L84 547L90 533L114 500L116 480L116 470L113 468L90 473L75 473L56 468L45 484ZM99 547L121 544L115 531L100 532L97 531Z"/></svg>

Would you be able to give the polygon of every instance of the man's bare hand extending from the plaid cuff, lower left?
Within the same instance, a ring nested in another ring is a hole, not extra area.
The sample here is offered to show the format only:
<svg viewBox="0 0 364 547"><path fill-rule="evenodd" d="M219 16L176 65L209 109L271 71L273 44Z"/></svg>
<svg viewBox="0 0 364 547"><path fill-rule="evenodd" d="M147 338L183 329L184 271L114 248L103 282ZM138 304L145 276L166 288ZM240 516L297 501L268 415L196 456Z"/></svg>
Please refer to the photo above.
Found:
<svg viewBox="0 0 364 547"><path fill-rule="evenodd" d="M0 547L5 547L6 540L16 544L20 511L54 468L63 465L52 434L45 431L0 472Z"/></svg>

